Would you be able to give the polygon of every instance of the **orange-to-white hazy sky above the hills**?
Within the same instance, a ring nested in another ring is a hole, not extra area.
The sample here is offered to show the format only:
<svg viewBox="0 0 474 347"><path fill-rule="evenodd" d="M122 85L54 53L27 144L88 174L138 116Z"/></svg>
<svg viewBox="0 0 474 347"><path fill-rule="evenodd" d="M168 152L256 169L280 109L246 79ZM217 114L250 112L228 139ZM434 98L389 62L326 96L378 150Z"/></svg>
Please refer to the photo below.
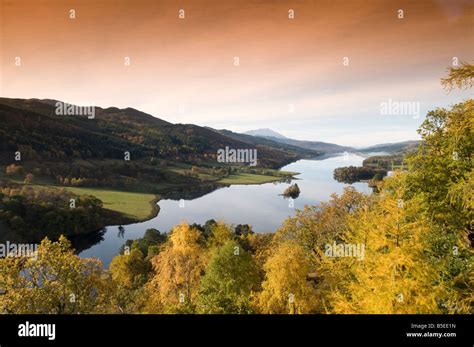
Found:
<svg viewBox="0 0 474 347"><path fill-rule="evenodd" d="M349 146L417 139L427 111L472 97L440 85L474 60L470 0L0 4L3 97Z"/></svg>

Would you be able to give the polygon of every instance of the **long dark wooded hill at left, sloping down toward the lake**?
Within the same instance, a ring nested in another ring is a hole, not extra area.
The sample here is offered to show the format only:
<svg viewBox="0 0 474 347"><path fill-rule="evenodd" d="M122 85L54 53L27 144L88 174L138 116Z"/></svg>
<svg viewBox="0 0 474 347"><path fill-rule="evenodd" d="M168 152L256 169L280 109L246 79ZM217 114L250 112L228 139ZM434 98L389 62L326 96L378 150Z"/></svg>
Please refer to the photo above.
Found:
<svg viewBox="0 0 474 347"><path fill-rule="evenodd" d="M21 166L10 171L17 176L32 173L35 180L41 177L52 184L140 187L148 192L217 182L239 167L245 169L245 164L217 161L217 151L226 147L256 149L253 174L321 154L249 135L173 124L133 108L95 107L93 119L58 115L57 102L0 98L0 166ZM0 168L0 176L5 171Z"/></svg>

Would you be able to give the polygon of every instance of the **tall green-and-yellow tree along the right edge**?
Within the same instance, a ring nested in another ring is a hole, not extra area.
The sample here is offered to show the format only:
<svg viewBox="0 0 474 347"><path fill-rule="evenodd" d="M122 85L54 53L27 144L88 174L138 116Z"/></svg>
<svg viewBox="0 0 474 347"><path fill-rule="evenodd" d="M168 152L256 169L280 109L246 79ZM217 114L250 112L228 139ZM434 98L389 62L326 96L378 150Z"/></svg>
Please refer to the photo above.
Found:
<svg viewBox="0 0 474 347"><path fill-rule="evenodd" d="M408 158L406 198L420 199L420 215L430 223L430 261L446 283L445 312L465 312L472 295L472 153L474 100L429 112L419 132L423 142ZM470 292L470 294L469 294Z"/></svg>

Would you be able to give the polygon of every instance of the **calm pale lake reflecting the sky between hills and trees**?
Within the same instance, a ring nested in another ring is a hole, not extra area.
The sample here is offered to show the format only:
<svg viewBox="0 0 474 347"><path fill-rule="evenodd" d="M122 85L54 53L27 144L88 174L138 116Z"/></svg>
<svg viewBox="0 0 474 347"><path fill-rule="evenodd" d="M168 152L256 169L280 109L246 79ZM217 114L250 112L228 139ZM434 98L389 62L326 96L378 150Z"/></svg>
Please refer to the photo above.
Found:
<svg viewBox="0 0 474 347"><path fill-rule="evenodd" d="M118 225L108 226L103 240L81 252L80 256L97 257L108 267L127 239L140 238L149 228L167 232L182 221L203 224L208 219L215 219L231 224L250 224L256 232L275 231L286 218L294 215L295 209L327 201L332 193L341 193L348 185L335 181L333 170L340 166L360 166L363 160L361 156L349 154L323 160L299 160L282 168L300 173L296 176L298 180L292 182L296 182L301 190L300 196L293 200L294 207L290 207L290 201L280 195L289 183L219 188L199 198L184 200L184 207L180 207L179 200L161 200L158 202L160 212L155 218L125 225L124 232L119 231ZM361 192L371 191L366 183L353 186Z"/></svg>

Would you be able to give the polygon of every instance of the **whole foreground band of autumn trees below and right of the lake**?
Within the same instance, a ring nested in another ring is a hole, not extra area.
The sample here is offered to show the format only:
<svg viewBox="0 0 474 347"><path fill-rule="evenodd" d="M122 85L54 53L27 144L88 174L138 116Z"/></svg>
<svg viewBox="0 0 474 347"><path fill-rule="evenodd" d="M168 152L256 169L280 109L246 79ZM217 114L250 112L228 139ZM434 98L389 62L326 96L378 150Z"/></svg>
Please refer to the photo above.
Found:
<svg viewBox="0 0 474 347"><path fill-rule="evenodd" d="M443 83L473 81L463 64ZM0 259L0 312L473 313L473 123L472 99L429 112L406 170L377 193L346 188L272 234L150 229L108 270L44 239L36 259Z"/></svg>

